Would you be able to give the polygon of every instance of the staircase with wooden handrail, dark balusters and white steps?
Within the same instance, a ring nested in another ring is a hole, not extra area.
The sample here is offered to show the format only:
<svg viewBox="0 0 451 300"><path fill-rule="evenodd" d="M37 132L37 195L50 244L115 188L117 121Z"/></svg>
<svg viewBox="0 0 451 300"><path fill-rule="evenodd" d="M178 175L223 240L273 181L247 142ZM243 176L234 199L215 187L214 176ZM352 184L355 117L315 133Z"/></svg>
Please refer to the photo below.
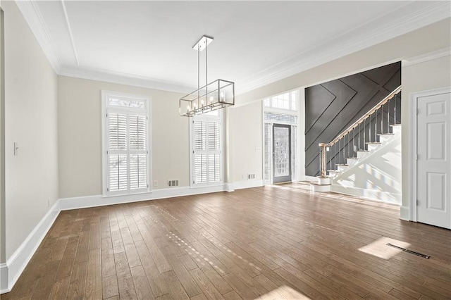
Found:
<svg viewBox="0 0 451 300"><path fill-rule="evenodd" d="M353 180L362 180L365 173L362 168L371 168L378 161L390 161L383 156L383 152L391 147L400 148L401 145L401 87L393 90L362 118L355 121L329 143L319 144L320 175L315 182L311 182L310 189L314 192L341 192L352 194ZM399 144L399 145L398 145ZM394 150L391 149L391 152ZM393 156L393 155L392 155ZM364 164L371 158L371 164ZM392 157L394 165L397 159ZM399 158L400 163L400 158ZM370 165L370 167L369 167ZM366 170L368 172L368 170ZM400 171L400 170L399 170ZM359 175L359 178L355 178ZM363 176L362 176L363 175ZM354 178L353 178L354 177ZM389 175L387 177L390 177ZM350 179L351 178L351 179ZM369 182L373 185L373 181ZM376 180L377 181L377 180ZM384 185L381 183L381 185ZM382 192L383 193L383 192ZM387 199L395 202L393 196L370 192L377 199ZM357 196L357 194L356 194ZM370 197L371 198L371 197ZM395 197L396 198L396 197Z"/></svg>

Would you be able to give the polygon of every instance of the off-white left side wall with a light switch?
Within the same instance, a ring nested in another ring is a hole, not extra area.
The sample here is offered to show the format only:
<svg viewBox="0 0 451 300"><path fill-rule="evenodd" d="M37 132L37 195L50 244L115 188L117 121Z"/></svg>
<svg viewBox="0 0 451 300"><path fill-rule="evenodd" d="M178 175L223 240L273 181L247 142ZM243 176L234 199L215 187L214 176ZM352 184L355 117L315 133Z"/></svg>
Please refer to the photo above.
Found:
<svg viewBox="0 0 451 300"><path fill-rule="evenodd" d="M8 259L58 199L57 98L56 74L15 2L2 8Z"/></svg>

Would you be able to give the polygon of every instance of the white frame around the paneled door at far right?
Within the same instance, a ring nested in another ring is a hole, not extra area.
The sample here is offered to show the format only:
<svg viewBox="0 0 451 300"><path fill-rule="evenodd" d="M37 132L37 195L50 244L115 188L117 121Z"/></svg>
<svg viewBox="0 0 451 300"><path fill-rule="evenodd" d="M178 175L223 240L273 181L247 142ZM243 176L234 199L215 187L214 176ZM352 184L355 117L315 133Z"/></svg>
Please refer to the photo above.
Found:
<svg viewBox="0 0 451 300"><path fill-rule="evenodd" d="M410 199L409 199L409 219L411 221L417 222L416 219L416 211L417 211L417 206L416 206L416 184L417 184L417 163L416 163L416 156L417 151L416 151L416 146L417 146L417 135L418 135L418 130L417 130L417 125L418 125L418 99L424 96L433 96L433 95L437 95L437 94L447 94L447 93L451 93L451 87L442 87L439 89L428 89L426 91L422 91L422 92L413 92L410 94L409 98L410 98L410 119L411 119L411 126L410 129L412 130L411 133L411 144L410 144Z"/></svg>

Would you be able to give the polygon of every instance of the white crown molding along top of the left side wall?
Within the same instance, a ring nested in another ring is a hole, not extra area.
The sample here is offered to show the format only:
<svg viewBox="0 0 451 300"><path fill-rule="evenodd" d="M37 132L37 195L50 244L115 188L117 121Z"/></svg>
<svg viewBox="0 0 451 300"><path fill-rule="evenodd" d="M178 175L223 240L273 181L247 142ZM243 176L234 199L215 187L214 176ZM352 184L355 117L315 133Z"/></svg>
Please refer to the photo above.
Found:
<svg viewBox="0 0 451 300"><path fill-rule="evenodd" d="M42 18L41 11L39 11L36 1L16 0L16 5L27 21L28 26L30 26L30 29L41 46L42 51L44 51L45 56L47 56L52 68L58 73L63 63L58 56L56 46L47 29L47 25L45 25L44 18Z"/></svg>

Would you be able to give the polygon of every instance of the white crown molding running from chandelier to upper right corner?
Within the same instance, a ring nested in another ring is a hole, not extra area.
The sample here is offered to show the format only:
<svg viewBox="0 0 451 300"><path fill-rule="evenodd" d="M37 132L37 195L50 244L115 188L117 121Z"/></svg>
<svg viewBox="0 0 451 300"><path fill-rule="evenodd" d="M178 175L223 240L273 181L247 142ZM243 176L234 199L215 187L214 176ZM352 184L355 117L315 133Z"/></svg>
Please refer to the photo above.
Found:
<svg viewBox="0 0 451 300"><path fill-rule="evenodd" d="M406 6L401 9L406 9ZM388 13L378 20L357 27L352 32L347 32L341 37L332 39L326 43L309 49L282 63L273 65L266 70L249 77L243 85L237 87L237 94L249 92L272 82L282 80L323 63L347 56L354 52L366 49L388 39L393 39L407 32L412 32L421 27L438 22L451 16L450 1L439 1L423 10L406 13L398 17L399 10ZM393 18L396 15L396 18ZM374 23L382 23L382 26L374 27ZM348 38L347 38L348 37Z"/></svg>

